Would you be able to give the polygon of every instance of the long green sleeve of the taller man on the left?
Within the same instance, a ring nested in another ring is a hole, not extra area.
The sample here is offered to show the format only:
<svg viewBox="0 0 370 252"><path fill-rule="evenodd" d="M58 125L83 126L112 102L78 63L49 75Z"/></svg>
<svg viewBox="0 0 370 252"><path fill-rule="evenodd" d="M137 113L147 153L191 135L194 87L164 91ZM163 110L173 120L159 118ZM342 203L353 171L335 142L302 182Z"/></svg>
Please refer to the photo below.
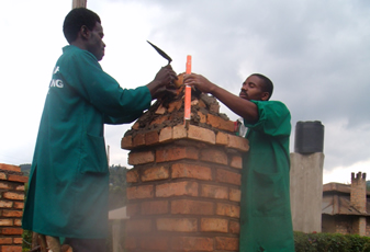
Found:
<svg viewBox="0 0 370 252"><path fill-rule="evenodd" d="M152 95L146 87L122 89L87 50L76 49L59 66L65 81L106 116L131 117L150 106Z"/></svg>

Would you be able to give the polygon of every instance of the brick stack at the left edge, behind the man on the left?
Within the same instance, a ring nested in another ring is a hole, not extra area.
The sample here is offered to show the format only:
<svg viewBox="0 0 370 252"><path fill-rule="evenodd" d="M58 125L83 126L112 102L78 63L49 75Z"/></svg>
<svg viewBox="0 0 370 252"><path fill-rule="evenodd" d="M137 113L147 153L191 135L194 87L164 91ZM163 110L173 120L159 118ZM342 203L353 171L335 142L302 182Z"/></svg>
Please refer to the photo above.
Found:
<svg viewBox="0 0 370 252"><path fill-rule="evenodd" d="M0 251L22 252L25 182L20 167L0 163Z"/></svg>

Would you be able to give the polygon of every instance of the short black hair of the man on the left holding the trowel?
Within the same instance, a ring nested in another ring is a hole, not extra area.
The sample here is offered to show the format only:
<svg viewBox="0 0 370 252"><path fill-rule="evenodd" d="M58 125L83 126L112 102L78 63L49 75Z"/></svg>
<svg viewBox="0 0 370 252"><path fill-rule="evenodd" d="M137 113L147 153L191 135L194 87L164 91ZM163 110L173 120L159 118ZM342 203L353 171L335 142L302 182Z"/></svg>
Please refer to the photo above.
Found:
<svg viewBox="0 0 370 252"><path fill-rule="evenodd" d="M96 24L101 23L100 18L97 13L86 9L76 8L71 10L63 24L63 33L67 42L70 44L77 38L77 34L82 25L86 25L90 31L96 26Z"/></svg>

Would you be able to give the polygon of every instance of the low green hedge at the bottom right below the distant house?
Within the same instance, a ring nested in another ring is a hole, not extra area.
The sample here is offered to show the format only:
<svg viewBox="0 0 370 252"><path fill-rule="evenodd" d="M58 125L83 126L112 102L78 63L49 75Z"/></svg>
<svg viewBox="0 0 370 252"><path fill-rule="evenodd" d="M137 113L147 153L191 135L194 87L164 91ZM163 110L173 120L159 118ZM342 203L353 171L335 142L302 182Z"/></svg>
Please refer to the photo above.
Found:
<svg viewBox="0 0 370 252"><path fill-rule="evenodd" d="M295 252L370 252L370 238L358 234L294 232Z"/></svg>

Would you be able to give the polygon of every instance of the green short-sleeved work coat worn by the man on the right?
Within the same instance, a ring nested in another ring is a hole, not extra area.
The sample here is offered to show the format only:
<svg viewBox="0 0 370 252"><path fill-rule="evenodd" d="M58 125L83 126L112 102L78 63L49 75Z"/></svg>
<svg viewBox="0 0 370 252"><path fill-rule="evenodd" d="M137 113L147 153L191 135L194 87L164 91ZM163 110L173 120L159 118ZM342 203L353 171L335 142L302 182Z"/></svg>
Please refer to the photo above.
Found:
<svg viewBox="0 0 370 252"><path fill-rule="evenodd" d="M291 115L277 101L251 101L255 124L244 121L249 151L243 160L240 252L294 251L290 209L289 138Z"/></svg>

